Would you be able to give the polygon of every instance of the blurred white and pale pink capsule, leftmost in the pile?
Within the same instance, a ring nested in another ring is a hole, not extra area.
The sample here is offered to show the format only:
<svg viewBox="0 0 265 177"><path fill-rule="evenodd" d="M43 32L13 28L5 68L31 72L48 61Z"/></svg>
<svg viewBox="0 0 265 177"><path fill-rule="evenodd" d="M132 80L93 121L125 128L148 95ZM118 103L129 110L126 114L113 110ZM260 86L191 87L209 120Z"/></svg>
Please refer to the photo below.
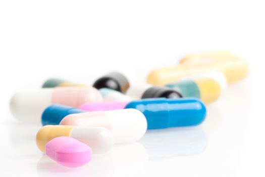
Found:
<svg viewBox="0 0 265 177"><path fill-rule="evenodd" d="M78 107L103 101L93 87L55 87L17 92L10 101L12 114L21 121L40 122L41 113L51 104Z"/></svg>

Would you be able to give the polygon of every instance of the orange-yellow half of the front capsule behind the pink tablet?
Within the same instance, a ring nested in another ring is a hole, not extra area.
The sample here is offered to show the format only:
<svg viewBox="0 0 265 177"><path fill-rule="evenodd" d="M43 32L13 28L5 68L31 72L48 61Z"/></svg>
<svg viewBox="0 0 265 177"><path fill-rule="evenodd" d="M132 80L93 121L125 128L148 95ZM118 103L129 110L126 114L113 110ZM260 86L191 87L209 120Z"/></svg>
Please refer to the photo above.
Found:
<svg viewBox="0 0 265 177"><path fill-rule="evenodd" d="M70 137L73 126L46 125L39 129L36 135L36 144L42 152L45 152L46 144L56 137Z"/></svg>

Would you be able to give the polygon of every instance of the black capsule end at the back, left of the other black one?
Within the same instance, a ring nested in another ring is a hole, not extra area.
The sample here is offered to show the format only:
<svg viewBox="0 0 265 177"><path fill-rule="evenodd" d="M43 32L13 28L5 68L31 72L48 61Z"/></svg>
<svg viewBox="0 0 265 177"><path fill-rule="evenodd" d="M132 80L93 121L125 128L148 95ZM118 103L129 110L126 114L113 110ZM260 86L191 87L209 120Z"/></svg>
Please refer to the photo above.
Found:
<svg viewBox="0 0 265 177"><path fill-rule="evenodd" d="M128 90L129 86L130 85L128 79L119 72L111 72L109 74L106 74L97 79L93 84L93 87L95 87L96 89L107 87L121 93L125 93Z"/></svg>

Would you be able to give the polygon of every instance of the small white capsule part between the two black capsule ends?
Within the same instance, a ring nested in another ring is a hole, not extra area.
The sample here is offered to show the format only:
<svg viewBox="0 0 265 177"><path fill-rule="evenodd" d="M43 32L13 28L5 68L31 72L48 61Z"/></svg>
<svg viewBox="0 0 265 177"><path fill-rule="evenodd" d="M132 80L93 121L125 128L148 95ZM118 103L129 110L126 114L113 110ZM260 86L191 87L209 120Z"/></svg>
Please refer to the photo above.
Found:
<svg viewBox="0 0 265 177"><path fill-rule="evenodd" d="M133 83L127 90L126 95L132 100L140 100L144 92L150 87L152 87L152 85L146 83Z"/></svg>

